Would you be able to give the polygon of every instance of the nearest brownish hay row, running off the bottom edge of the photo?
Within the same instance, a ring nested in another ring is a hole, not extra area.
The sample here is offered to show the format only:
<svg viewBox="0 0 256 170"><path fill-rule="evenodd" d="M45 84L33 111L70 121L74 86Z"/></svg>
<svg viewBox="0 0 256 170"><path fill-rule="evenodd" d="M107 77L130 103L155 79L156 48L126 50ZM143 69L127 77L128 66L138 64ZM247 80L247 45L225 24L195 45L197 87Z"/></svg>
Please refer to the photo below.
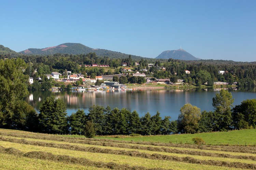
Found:
<svg viewBox="0 0 256 170"><path fill-rule="evenodd" d="M132 169L132 170L146 170L147 168L142 166L130 166L128 164L120 165L113 162L103 163L103 162L93 162L86 158L77 158L68 155L54 155L49 152L42 152L42 151L32 151L28 153L23 153L14 148L4 148L0 146L0 153L7 153L12 154L19 157L28 157L28 158L35 158L35 159L44 159L44 160L52 160L52 161L60 161L66 162L71 164L80 164L84 166L94 166L97 168L109 168L109 169ZM157 168L161 169L161 168Z"/></svg>

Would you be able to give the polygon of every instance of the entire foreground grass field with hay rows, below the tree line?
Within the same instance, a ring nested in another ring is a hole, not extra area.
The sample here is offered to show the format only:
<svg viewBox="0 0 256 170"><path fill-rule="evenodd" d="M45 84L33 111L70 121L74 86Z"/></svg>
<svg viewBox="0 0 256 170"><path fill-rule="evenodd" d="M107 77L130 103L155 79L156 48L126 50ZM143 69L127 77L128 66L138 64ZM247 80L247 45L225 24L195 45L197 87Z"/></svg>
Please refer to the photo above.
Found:
<svg viewBox="0 0 256 170"><path fill-rule="evenodd" d="M237 138L248 141L256 136L255 130L232 133L200 135L211 139L218 134L223 142L226 142L224 136L247 133L251 137ZM168 141L170 138L188 140L193 137L189 135L112 140L0 129L0 169L256 169L254 146L187 145Z"/></svg>

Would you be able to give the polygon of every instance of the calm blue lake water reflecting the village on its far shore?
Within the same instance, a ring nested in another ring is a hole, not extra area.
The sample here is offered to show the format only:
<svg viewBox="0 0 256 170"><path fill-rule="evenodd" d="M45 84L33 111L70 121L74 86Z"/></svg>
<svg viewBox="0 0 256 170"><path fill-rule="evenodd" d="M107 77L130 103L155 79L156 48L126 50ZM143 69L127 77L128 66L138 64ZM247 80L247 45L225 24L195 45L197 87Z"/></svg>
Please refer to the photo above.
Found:
<svg viewBox="0 0 256 170"><path fill-rule="evenodd" d="M88 109L93 104L110 106L111 109L127 108L130 111L136 110L140 117L149 112L155 115L160 112L161 117L171 116L171 120L176 120L180 114L180 108L191 103L201 109L201 111L213 111L212 98L215 97L217 90L207 89L189 91L182 90L133 90L131 91L83 91L83 92L67 92L67 91L35 91L26 98L26 101L32 105L38 112L46 97L56 96L63 99L67 104L67 113L71 115L77 109L84 109L88 113ZM233 105L241 104L243 100L255 99L255 92L238 92L231 91L234 98Z"/></svg>

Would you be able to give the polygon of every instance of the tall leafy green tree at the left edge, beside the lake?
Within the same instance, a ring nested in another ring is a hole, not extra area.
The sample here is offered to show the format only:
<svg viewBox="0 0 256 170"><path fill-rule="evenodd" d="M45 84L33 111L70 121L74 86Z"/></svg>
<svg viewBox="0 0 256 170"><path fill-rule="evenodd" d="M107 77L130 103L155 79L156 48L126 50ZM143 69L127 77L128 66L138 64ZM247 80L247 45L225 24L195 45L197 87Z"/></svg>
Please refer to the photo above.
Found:
<svg viewBox="0 0 256 170"><path fill-rule="evenodd" d="M3 128L14 129L24 118L17 108L28 95L28 75L23 74L26 67L20 58L0 60L0 126Z"/></svg>

